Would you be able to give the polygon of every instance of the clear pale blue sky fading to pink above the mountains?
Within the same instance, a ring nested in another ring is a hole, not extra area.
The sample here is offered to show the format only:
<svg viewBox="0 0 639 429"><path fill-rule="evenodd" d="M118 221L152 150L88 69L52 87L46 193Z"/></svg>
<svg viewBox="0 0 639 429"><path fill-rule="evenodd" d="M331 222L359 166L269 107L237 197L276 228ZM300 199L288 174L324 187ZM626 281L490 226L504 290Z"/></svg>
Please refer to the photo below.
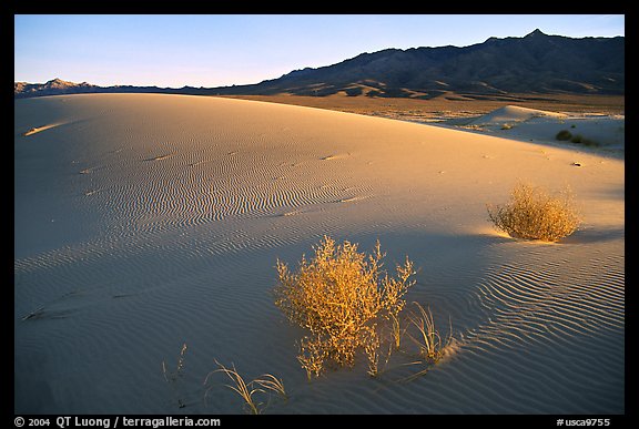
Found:
<svg viewBox="0 0 639 429"><path fill-rule="evenodd" d="M258 83L363 52L481 43L535 29L625 35L625 16L16 16L14 80L181 88Z"/></svg>

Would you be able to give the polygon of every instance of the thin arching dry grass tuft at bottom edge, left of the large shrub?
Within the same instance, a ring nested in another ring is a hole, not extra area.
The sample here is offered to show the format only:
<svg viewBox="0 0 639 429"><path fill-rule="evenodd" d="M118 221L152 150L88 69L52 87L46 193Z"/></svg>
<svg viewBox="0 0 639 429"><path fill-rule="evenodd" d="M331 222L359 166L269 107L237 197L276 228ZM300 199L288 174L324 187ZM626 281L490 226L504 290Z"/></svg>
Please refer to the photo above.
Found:
<svg viewBox="0 0 639 429"><path fill-rule="evenodd" d="M232 384L225 386L231 390L233 390L234 392L236 392L242 398L244 410L247 413L261 415L271 404L270 392L276 394L284 401L288 400L288 396L286 394L286 390L284 389L284 382L277 377L271 374L265 374L252 381L246 382L244 381L244 378L240 375L240 372L237 372L237 370L235 369L235 365L232 364L231 365L232 368L226 368L217 360L215 360L215 364L217 364L220 368L211 371L206 376L204 384L206 385L209 382L209 379L213 374L223 372L224 375L226 375L229 379L231 379ZM209 394L209 390L211 390L211 388L206 390L206 394ZM256 399L258 395L268 395L267 402L258 401Z"/></svg>

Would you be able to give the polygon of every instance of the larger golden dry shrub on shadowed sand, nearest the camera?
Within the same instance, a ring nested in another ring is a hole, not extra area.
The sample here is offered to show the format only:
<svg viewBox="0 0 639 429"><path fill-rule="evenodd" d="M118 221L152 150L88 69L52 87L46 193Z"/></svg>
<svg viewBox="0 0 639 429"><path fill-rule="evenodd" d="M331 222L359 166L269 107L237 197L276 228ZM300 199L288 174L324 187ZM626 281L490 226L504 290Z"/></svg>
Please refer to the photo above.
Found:
<svg viewBox="0 0 639 429"><path fill-rule="evenodd" d="M402 297L415 283L413 263L397 266L397 278L382 270L379 242L374 253L357 252L357 244L336 245L331 237L304 256L297 272L277 261L275 305L288 320L308 330L300 341L298 360L308 378L326 367L353 366L358 349L376 372L379 331L406 304Z"/></svg>

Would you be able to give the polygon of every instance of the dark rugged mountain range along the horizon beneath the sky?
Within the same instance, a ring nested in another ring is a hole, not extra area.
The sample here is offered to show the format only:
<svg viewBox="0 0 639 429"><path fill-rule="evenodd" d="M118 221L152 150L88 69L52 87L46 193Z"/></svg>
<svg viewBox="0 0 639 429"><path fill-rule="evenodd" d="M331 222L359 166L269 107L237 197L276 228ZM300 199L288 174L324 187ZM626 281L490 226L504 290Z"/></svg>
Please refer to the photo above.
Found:
<svg viewBox="0 0 639 429"><path fill-rule="evenodd" d="M442 94L625 93L625 38L568 38L535 30L523 38L489 38L469 47L385 49L337 64L305 68L256 84L181 89L97 86L60 79L14 83L14 96L87 92L201 95L295 94L400 96Z"/></svg>

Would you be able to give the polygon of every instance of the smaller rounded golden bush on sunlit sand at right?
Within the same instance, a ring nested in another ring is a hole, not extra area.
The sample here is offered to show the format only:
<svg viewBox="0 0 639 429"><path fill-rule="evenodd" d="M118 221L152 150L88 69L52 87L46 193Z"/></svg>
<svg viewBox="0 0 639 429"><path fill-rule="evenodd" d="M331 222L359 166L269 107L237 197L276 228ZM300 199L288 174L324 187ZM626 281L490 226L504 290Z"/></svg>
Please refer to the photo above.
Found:
<svg viewBox="0 0 639 429"><path fill-rule="evenodd" d="M508 204L487 208L498 229L518 238L557 242L577 231L580 224L569 188L554 196L540 187L519 183Z"/></svg>

